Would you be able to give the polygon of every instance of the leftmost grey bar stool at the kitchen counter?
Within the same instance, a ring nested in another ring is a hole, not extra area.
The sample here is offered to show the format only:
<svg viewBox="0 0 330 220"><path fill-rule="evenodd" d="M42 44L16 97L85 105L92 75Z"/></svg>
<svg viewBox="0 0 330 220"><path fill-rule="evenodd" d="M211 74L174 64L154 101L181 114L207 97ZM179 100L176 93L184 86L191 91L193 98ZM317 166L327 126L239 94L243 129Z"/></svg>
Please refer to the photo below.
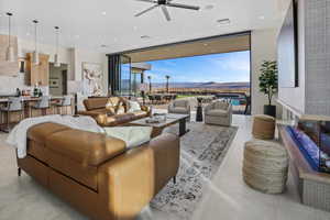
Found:
<svg viewBox="0 0 330 220"><path fill-rule="evenodd" d="M7 113L7 128L6 129L1 129L3 132L9 132L10 128L9 128L9 123L10 123L10 114L13 112L20 112L20 120L21 121L24 117L23 117L23 99L21 97L10 97L8 99L8 103L7 107L1 107L0 111L1 111L1 124L2 123L2 116L3 113Z"/></svg>

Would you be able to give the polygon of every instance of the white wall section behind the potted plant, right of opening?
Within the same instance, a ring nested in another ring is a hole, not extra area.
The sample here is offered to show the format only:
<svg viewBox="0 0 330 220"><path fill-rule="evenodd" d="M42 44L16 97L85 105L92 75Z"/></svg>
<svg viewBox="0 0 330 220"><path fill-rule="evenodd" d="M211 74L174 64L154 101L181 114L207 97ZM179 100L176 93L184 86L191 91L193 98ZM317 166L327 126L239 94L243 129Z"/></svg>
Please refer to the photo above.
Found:
<svg viewBox="0 0 330 220"><path fill-rule="evenodd" d="M260 92L258 76L263 61L277 61L278 30L257 30L251 33L251 63L252 63L252 114L263 113L264 105L268 103L267 97ZM273 105L276 103L276 97ZM282 108L277 105L277 117L280 117Z"/></svg>

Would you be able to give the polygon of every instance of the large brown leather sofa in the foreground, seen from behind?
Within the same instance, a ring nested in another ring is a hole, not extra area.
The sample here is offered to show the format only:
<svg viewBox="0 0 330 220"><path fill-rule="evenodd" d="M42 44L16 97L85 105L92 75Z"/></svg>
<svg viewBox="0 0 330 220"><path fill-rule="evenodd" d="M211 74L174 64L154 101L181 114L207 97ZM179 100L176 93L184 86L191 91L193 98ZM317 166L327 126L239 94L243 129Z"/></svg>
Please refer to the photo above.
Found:
<svg viewBox="0 0 330 220"><path fill-rule="evenodd" d="M105 134L42 123L29 130L18 166L91 219L129 220L175 177L179 140L162 134L127 151Z"/></svg>

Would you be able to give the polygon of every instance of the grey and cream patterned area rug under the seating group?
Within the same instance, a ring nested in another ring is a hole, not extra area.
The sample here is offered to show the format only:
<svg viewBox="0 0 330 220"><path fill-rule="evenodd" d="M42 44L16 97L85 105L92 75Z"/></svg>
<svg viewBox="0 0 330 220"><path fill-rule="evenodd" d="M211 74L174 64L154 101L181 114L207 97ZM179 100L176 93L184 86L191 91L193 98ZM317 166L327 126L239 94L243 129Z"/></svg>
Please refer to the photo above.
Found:
<svg viewBox="0 0 330 220"><path fill-rule="evenodd" d="M189 220L202 198L204 186L218 170L233 138L235 127L216 127L191 122L180 139L180 167L177 183L168 183L152 200L151 207ZM178 133L178 127L164 132Z"/></svg>

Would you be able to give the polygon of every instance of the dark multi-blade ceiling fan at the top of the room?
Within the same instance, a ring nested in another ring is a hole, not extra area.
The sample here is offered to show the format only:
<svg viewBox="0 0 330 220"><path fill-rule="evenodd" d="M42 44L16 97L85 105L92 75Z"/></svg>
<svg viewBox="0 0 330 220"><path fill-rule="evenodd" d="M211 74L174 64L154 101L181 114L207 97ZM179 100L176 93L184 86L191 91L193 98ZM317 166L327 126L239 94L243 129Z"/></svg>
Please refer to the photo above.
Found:
<svg viewBox="0 0 330 220"><path fill-rule="evenodd" d="M136 1L143 1L143 2L148 2L148 3L154 3L151 8L145 9L144 11L135 14L135 16L141 16L142 14L156 9L161 7L165 18L167 21L170 21L170 16L167 10L167 7L173 7L173 8L180 8L180 9L189 9L189 10L196 10L198 11L200 8L195 7L195 6L188 6L188 4L182 4L182 3L173 3L173 0L136 0Z"/></svg>

